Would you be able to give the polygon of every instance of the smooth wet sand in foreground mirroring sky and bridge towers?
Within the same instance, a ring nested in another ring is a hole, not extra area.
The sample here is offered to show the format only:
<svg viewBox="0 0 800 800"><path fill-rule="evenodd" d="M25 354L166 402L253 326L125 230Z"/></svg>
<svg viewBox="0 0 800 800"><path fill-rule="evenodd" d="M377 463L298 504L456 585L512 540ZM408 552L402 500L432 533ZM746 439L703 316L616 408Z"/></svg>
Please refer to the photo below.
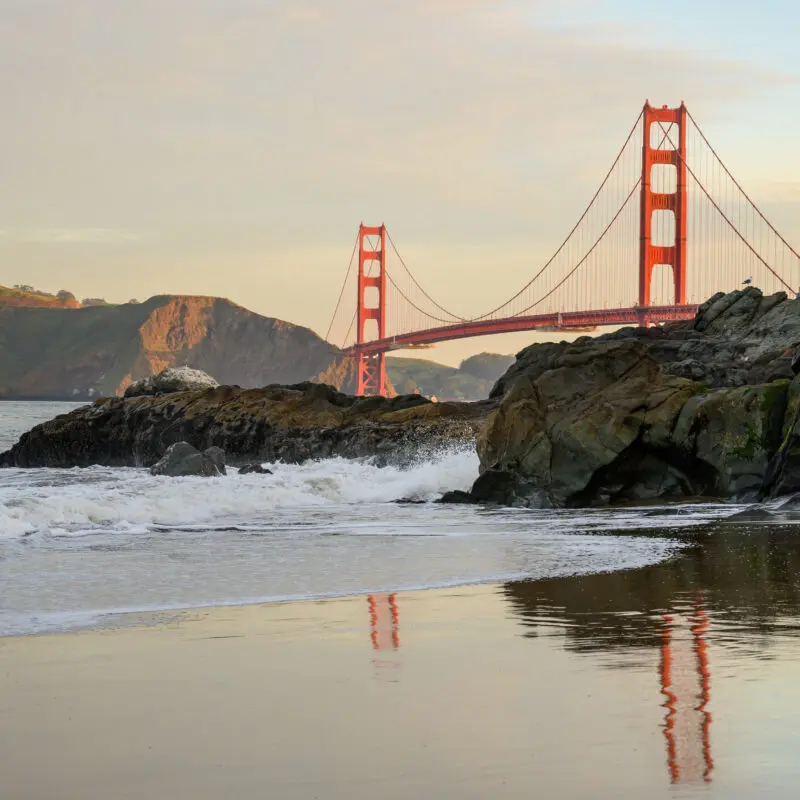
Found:
<svg viewBox="0 0 800 800"><path fill-rule="evenodd" d="M4 800L796 797L800 548L0 639Z"/></svg>

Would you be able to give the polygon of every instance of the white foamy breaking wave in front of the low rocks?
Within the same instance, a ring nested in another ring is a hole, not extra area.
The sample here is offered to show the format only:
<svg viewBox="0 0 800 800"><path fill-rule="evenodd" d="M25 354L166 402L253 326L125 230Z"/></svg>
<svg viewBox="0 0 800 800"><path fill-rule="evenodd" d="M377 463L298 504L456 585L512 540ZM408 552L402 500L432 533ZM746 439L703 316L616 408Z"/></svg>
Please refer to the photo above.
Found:
<svg viewBox="0 0 800 800"><path fill-rule="evenodd" d="M336 505L433 500L468 489L472 448L441 452L408 468L330 459L270 464L272 475L166 478L147 470L91 467L0 473L0 537L149 531L154 527L259 527L275 512Z"/></svg>

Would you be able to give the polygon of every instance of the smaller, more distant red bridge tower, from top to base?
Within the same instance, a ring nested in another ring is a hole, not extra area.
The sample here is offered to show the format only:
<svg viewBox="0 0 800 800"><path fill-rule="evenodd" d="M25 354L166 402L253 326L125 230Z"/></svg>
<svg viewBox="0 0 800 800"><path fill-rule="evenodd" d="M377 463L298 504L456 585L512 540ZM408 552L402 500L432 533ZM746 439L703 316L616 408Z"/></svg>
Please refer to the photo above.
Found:
<svg viewBox="0 0 800 800"><path fill-rule="evenodd" d="M379 249L368 237L377 237ZM377 264L377 274L373 264ZM367 305L367 289L377 289L377 305ZM356 310L357 347L367 341L366 325L369 320L378 324L378 340L386 337L386 227L364 225L358 229L358 305ZM356 393L386 396L386 359L384 350L367 351L359 348L358 384Z"/></svg>

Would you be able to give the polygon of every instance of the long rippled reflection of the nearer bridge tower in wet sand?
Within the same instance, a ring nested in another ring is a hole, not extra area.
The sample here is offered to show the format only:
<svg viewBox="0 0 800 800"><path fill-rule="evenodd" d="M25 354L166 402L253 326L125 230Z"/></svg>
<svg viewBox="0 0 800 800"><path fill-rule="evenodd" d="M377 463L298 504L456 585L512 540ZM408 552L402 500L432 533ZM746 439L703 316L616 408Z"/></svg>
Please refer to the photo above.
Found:
<svg viewBox="0 0 800 800"><path fill-rule="evenodd" d="M664 738L674 784L711 781L711 671L705 634L708 616L700 603L691 615L664 615L661 692L666 698Z"/></svg>

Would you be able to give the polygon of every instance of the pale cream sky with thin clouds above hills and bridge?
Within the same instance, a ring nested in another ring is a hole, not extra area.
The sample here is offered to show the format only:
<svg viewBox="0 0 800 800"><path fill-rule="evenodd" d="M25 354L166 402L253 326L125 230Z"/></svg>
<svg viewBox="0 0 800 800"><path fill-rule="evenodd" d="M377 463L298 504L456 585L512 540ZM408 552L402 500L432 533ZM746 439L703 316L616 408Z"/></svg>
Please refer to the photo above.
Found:
<svg viewBox="0 0 800 800"><path fill-rule="evenodd" d="M363 220L477 314L645 99L684 100L797 246L799 30L789 0L0 0L0 283L222 295L324 335Z"/></svg>

